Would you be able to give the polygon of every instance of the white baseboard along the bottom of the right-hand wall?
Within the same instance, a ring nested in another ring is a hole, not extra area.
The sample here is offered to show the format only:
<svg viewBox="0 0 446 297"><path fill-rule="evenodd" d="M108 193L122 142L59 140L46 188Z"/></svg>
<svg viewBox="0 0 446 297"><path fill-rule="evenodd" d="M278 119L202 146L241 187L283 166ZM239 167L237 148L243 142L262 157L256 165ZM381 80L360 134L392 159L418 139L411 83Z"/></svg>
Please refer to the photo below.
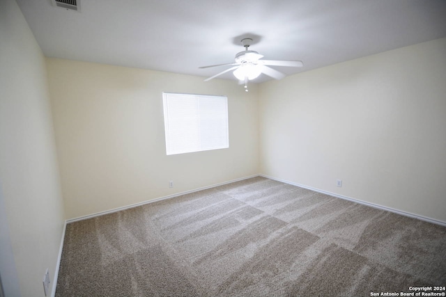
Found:
<svg viewBox="0 0 446 297"><path fill-rule="evenodd" d="M336 197L336 198L341 198L341 199L344 199L344 200L348 200L348 201L356 202L356 203L359 203L359 204L367 205L368 207L374 207L376 209L390 211L390 212L393 212L394 214L401 214L401 216L408 216L410 218L417 218L418 220L424 220L424 221L429 222L429 223L433 223L433 224L436 224L436 225L441 225L441 226L445 226L446 227L446 222L443 222L443 220L436 220L434 218L427 218L426 216L420 216L418 214L411 214L409 212L401 211L399 209L393 209L391 207L385 207L383 205L379 205L379 204L375 204L375 203L371 203L371 202L365 202L365 201L362 201L362 200L357 200L355 198L347 197L347 196L344 196L344 195L339 195L339 194L336 194L336 193L331 193L331 192L328 192L328 191L323 191L323 190L320 190L318 188L312 188L311 186L305 186L303 184L297 184L295 182L289 182L287 180L279 179L279 178L276 178L276 177L270 177L268 175L262 175L261 174L259 176L266 177L268 179L273 179L273 180L275 180L277 182L284 182L285 184L291 184L293 186L299 186L300 188L307 188L309 190L312 190L312 191L315 191L315 192L318 192L318 193L327 194L327 195L330 195L330 196L333 196L333 197Z"/></svg>

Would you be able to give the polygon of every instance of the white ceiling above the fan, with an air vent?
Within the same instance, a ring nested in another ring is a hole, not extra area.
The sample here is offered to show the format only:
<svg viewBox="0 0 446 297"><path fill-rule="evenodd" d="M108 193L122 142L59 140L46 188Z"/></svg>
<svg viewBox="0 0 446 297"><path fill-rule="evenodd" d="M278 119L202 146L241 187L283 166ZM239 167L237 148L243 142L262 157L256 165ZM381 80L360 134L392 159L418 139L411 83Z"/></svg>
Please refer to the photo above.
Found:
<svg viewBox="0 0 446 297"><path fill-rule="evenodd" d="M303 61L275 67L294 74L446 36L446 0L80 0L80 13L17 3L45 56L202 77L225 70L199 66L233 62L245 37L265 59Z"/></svg>

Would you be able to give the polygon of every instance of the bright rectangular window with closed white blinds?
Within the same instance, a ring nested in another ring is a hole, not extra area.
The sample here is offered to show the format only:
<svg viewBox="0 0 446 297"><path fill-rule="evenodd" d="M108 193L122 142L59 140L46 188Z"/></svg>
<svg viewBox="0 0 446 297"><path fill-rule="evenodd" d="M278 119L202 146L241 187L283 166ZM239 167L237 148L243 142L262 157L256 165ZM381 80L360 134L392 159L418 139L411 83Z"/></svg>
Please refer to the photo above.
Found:
<svg viewBox="0 0 446 297"><path fill-rule="evenodd" d="M162 93L166 153L229 147L228 98Z"/></svg>

